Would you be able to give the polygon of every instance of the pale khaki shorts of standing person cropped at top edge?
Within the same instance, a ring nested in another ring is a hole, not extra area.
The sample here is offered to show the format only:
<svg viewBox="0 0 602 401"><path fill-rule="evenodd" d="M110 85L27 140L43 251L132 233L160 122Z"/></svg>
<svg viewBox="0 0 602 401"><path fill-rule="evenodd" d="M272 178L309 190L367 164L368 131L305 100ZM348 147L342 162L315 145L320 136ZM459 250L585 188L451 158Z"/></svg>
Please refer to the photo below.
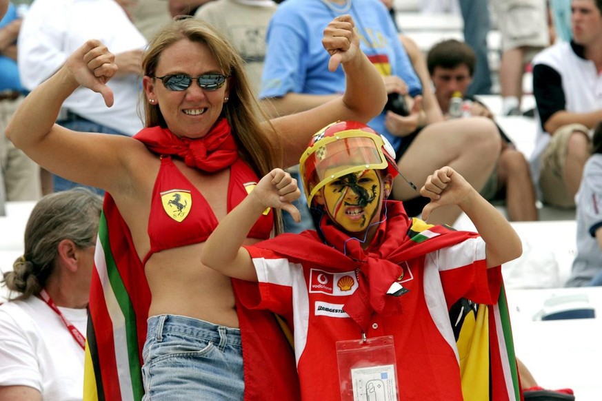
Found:
<svg viewBox="0 0 602 401"><path fill-rule="evenodd" d="M495 0L490 4L501 32L503 51L550 45L545 0ZM531 58L532 54L528 54L528 60Z"/></svg>

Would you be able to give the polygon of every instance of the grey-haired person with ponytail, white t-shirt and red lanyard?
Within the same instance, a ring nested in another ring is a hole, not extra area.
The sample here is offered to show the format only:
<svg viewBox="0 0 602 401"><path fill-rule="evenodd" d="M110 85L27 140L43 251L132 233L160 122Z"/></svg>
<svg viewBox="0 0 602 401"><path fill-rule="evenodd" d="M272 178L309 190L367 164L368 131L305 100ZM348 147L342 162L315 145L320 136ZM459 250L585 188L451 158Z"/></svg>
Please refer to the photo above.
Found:
<svg viewBox="0 0 602 401"><path fill-rule="evenodd" d="M81 400L83 348L101 198L87 189L45 196L25 253L4 274L16 294L0 306L0 400Z"/></svg>

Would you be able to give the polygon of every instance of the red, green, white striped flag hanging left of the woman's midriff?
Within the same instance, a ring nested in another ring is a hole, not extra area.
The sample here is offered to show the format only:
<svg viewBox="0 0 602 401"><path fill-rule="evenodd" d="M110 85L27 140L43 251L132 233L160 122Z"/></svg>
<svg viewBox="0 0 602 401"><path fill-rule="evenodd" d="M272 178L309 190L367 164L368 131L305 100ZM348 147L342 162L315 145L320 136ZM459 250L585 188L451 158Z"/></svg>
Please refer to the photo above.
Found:
<svg viewBox="0 0 602 401"><path fill-rule="evenodd" d="M84 400L143 396L142 345L150 290L125 221L106 194L90 287Z"/></svg>

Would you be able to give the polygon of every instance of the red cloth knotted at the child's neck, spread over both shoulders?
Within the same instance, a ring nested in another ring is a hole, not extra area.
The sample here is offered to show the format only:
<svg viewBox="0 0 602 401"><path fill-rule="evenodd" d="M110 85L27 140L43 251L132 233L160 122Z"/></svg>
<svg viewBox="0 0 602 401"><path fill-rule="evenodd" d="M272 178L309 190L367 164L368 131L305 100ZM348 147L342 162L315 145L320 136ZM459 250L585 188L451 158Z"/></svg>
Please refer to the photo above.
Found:
<svg viewBox="0 0 602 401"><path fill-rule="evenodd" d="M343 310L365 331L372 313L395 313L401 308L403 297L387 295L401 276L399 263L478 235L435 226L432 229L436 229L439 236L415 242L411 238L412 220L405 214L402 203L394 200L383 203L381 220L365 250L361 249L359 240L341 232L329 218L323 218L320 224L325 243L317 232L307 230L298 235L281 234L254 246L335 271L355 269L359 287L345 302Z"/></svg>

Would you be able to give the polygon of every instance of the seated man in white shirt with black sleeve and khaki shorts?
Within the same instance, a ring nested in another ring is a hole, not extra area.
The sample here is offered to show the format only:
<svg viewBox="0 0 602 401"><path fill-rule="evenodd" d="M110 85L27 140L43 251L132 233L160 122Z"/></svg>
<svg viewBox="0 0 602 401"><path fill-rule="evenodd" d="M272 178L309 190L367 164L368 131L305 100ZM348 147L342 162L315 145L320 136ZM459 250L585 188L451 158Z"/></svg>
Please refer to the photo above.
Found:
<svg viewBox="0 0 602 401"><path fill-rule="evenodd" d="M531 174L547 205L572 208L590 156L591 130L602 120L602 2L572 2L570 42L533 59L533 94L539 115Z"/></svg>

